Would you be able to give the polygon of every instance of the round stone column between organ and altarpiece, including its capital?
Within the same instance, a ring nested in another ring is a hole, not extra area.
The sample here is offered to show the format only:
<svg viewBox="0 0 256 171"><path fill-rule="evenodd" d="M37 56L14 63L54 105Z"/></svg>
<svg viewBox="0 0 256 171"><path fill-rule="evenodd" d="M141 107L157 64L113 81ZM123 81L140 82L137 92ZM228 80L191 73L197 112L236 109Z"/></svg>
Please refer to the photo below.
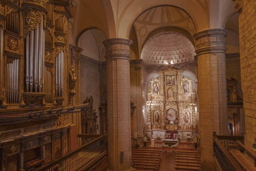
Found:
<svg viewBox="0 0 256 171"><path fill-rule="evenodd" d="M128 39L108 39L107 141L109 170L131 168L130 135L130 44Z"/></svg>

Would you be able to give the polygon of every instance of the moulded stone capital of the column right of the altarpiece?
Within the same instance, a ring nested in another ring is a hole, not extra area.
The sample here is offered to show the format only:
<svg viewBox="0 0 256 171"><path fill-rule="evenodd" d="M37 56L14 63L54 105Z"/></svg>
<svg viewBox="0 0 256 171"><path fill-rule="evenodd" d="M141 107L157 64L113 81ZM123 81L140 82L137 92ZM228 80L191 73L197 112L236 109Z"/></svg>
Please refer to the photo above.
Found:
<svg viewBox="0 0 256 171"><path fill-rule="evenodd" d="M196 40L195 52L197 55L209 54L211 52L225 52L227 31L222 28L214 28L199 31L194 35Z"/></svg>

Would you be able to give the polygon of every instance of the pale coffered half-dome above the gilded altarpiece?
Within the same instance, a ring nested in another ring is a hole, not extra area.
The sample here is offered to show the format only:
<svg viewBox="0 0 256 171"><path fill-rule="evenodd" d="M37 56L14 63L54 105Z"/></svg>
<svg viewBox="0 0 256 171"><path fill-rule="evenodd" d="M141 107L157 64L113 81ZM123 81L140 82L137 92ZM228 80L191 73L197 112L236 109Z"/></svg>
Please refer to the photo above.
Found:
<svg viewBox="0 0 256 171"><path fill-rule="evenodd" d="M177 33L159 34L145 43L141 58L146 64L174 64L194 59L195 49L185 36Z"/></svg>

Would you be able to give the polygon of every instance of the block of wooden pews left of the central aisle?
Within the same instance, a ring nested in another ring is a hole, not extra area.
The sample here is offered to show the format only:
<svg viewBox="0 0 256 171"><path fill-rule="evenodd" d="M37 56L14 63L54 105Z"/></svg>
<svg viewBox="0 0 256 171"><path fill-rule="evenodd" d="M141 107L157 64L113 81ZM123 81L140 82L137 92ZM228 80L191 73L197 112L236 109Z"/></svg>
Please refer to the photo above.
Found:
<svg viewBox="0 0 256 171"><path fill-rule="evenodd" d="M131 165L139 170L159 170L161 150L132 149Z"/></svg>

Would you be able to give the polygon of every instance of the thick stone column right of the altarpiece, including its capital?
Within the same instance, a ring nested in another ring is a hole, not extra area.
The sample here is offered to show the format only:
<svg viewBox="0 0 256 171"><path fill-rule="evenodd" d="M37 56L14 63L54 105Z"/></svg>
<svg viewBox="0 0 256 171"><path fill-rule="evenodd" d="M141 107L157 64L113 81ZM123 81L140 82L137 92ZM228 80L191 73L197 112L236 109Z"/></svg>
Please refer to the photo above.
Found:
<svg viewBox="0 0 256 171"><path fill-rule="evenodd" d="M198 56L202 170L214 170L213 132L227 135L226 34L225 30L217 28L194 35Z"/></svg>

